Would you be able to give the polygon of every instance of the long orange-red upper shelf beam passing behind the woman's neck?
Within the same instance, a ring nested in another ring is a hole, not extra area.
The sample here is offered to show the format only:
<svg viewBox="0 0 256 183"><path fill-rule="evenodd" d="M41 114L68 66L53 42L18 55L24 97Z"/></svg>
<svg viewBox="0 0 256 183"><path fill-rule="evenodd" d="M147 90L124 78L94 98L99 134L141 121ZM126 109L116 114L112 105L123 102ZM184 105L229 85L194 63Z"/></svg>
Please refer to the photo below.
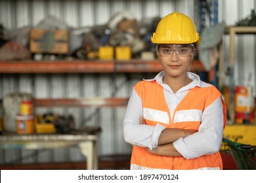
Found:
<svg viewBox="0 0 256 183"><path fill-rule="evenodd" d="M0 73L158 73L160 71L163 71L163 67L157 59L0 61ZM205 71L205 69L199 60L194 60L190 71Z"/></svg>

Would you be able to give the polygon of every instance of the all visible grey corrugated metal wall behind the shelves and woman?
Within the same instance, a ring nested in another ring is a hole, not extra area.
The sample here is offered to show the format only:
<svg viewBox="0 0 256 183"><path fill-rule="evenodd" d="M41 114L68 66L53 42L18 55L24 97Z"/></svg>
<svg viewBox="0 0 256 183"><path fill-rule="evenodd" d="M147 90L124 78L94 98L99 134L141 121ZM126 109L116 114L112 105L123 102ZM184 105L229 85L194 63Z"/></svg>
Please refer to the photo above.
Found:
<svg viewBox="0 0 256 183"><path fill-rule="evenodd" d="M256 7L255 0L219 1L219 22L233 25ZM6 29L13 30L37 25L47 15L56 16L70 27L90 27L106 24L114 14L129 10L137 20L165 16L177 10L194 17L194 1L144 0L144 1L0 1L0 22ZM196 16L195 16L196 17ZM224 49L228 53L228 35L224 37ZM253 73L255 85L255 35L240 36L237 40L236 75L246 78L248 71ZM225 55L228 61L228 55ZM242 68L239 70L237 68ZM11 92L33 93L34 97L129 97L133 85L142 78L155 74L16 74L0 75L0 98ZM37 113L47 108L37 109ZM122 121L125 108L56 108L54 112L73 114L75 125L100 125L99 154L131 152L131 146L123 141ZM25 157L25 158L24 158ZM21 160L20 160L21 159ZM55 162L80 161L79 150L0 150L0 164L21 161Z"/></svg>

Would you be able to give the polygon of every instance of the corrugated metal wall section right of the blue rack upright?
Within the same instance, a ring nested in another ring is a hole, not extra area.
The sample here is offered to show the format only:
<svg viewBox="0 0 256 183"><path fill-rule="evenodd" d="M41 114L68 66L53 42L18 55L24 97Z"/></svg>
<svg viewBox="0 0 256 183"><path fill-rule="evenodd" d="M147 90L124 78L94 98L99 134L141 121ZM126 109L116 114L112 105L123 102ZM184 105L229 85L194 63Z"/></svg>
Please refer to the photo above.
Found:
<svg viewBox="0 0 256 183"><path fill-rule="evenodd" d="M239 20L248 18L251 15L251 10L256 9L255 0L224 0L219 1L219 22L225 22L226 25L234 25ZM230 37L228 35L224 36L224 61L228 63L229 54L229 42ZM251 85L253 86L253 95L255 96L255 86L256 86L256 35L236 35L235 39L235 61L234 61L234 83L247 84L249 74L251 74ZM230 82L229 78L226 78L225 84Z"/></svg>

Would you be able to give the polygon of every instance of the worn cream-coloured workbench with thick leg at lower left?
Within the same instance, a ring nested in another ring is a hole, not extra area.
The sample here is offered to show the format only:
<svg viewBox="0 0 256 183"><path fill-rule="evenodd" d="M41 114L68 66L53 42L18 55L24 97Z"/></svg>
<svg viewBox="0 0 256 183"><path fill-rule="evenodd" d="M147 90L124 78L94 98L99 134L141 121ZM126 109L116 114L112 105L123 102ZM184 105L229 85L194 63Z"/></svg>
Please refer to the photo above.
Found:
<svg viewBox="0 0 256 183"><path fill-rule="evenodd" d="M95 131L99 131L99 128L96 128ZM42 150L76 146L87 158L87 169L96 170L98 169L97 140L98 133L33 135L4 133L0 135L0 149Z"/></svg>

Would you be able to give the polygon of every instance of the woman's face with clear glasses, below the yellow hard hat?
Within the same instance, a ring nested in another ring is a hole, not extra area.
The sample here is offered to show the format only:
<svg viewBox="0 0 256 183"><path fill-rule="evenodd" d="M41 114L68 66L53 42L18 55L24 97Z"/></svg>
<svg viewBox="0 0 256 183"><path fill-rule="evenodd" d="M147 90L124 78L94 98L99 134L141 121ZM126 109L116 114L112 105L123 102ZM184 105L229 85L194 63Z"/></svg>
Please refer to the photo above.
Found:
<svg viewBox="0 0 256 183"><path fill-rule="evenodd" d="M168 75L186 75L192 63L194 44L159 44L156 49L161 65Z"/></svg>

